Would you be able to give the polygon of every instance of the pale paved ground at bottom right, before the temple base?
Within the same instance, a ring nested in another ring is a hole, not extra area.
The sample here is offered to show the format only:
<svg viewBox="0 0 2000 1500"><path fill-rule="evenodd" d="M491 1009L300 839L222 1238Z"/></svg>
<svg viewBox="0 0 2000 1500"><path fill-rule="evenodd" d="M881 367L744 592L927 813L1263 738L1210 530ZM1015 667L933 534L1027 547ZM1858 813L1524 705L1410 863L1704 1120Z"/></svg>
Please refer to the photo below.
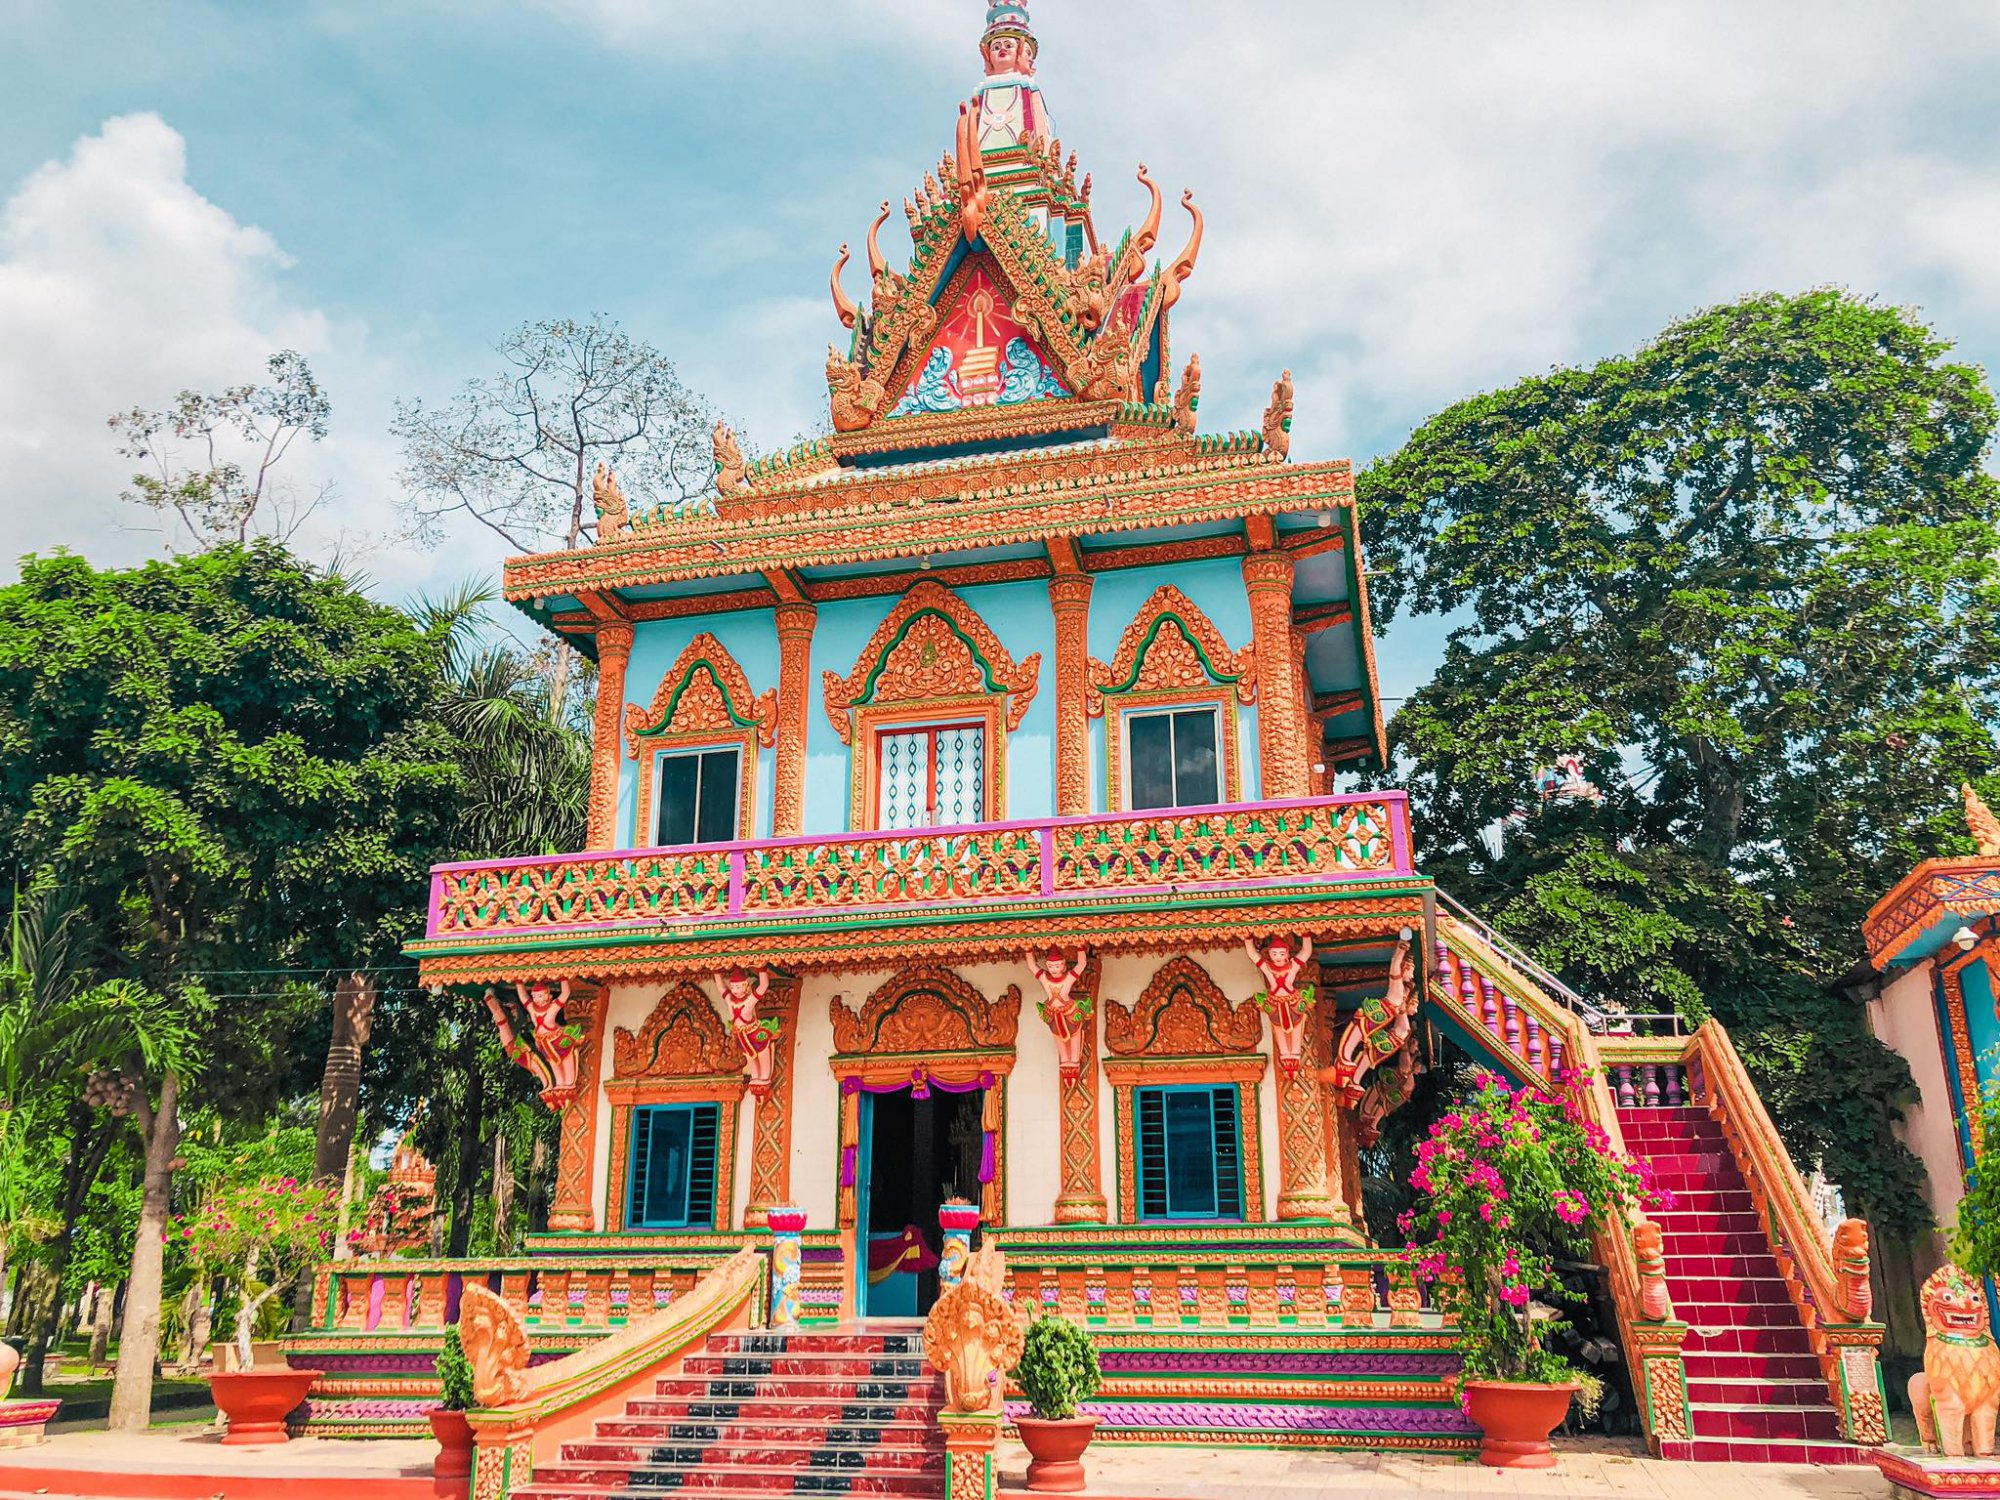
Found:
<svg viewBox="0 0 2000 1500"><path fill-rule="evenodd" d="M1460 1500L1628 1496L1630 1500L1886 1500L1874 1468L1666 1464L1636 1444L1564 1444L1562 1464L1508 1474L1448 1458L1264 1452L1256 1448L1092 1448L1086 1500L1368 1500L1446 1494ZM1028 1454L1000 1450L1002 1486L1026 1492Z"/></svg>

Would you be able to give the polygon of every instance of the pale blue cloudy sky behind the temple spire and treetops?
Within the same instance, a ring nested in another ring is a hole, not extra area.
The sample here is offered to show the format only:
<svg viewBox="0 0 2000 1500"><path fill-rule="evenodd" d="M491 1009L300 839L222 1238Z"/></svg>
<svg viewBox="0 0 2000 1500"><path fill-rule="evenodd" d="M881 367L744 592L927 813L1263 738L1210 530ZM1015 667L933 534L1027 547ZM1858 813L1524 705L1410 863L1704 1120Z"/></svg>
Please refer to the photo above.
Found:
<svg viewBox="0 0 2000 1500"><path fill-rule="evenodd" d="M1100 226L1208 214L1202 418L1296 374L1296 458L1676 316L1840 284L2000 352L1992 0L1032 0ZM394 404L610 314L752 444L826 402L826 272L950 144L982 0L0 0L0 578L162 552L106 416L326 384L298 538L396 600L500 544L400 536ZM900 214L896 216L900 220ZM1180 244L1182 224L1162 230ZM894 242L896 228L886 232ZM850 286L860 276L850 270ZM1384 692L1428 676L1398 622Z"/></svg>

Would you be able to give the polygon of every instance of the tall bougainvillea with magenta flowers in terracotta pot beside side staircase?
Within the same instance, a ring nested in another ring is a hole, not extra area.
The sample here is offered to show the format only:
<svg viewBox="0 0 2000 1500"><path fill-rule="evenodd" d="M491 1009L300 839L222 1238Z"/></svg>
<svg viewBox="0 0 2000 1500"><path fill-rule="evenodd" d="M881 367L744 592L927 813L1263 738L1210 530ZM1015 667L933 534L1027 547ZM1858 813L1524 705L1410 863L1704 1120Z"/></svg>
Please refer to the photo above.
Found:
<svg viewBox="0 0 2000 1500"><path fill-rule="evenodd" d="M1550 1096L1478 1074L1418 1144L1410 1174L1418 1202L1400 1220L1406 1254L1458 1324L1462 1406L1484 1434L1480 1462L1494 1468L1552 1468L1548 1434L1572 1400L1588 1416L1604 1390L1548 1348L1564 1328L1552 1304L1582 1300L1556 1276L1556 1258L1588 1254L1608 1214L1664 1200L1650 1168L1618 1156L1584 1118L1580 1084L1568 1074Z"/></svg>

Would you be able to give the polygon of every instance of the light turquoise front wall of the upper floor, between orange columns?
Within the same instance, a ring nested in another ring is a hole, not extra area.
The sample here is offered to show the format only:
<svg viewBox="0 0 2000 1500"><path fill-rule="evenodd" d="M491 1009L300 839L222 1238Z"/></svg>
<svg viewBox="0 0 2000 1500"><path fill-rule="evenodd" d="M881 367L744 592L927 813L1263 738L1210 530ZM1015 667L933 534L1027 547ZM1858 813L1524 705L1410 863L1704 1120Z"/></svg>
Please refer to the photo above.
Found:
<svg viewBox="0 0 2000 1500"><path fill-rule="evenodd" d="M1132 568L1102 574L1090 598L1090 654L1110 662L1118 638L1156 588L1174 584L1192 598L1234 650L1250 644L1250 604L1242 568L1232 558L1186 562L1164 568ZM1048 588L1040 582L962 588L960 598L992 628L1008 654L1020 662L1042 656L1034 702L1006 744L1006 818L1048 818L1056 810L1056 620ZM848 826L852 762L848 746L826 716L824 674L846 676L868 638L896 608L896 598L840 600L820 606L812 636L812 704L806 712L806 834L844 834ZM742 664L750 692L778 686L778 630L770 614L730 612L686 620L650 620L634 630L632 662L626 670L626 702L650 706L668 668L702 630L714 634ZM1236 756L1244 800L1258 798L1256 708L1240 706ZM1098 810L1114 804L1116 788L1106 788L1104 720L1092 720L1090 734L1092 800ZM646 830L634 826L638 812L638 766L624 758L620 738L618 842L634 846ZM770 838L774 756L758 752L756 836ZM1990 1008L1988 1008L1990 1014Z"/></svg>

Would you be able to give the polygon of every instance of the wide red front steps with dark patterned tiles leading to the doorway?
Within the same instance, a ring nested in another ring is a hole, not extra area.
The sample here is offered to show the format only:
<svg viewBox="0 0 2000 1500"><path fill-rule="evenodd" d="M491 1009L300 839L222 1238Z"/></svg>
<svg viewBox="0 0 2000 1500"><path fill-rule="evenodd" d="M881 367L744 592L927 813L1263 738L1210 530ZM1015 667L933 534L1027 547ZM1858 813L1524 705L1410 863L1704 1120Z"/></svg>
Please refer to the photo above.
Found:
<svg viewBox="0 0 2000 1500"><path fill-rule="evenodd" d="M678 1376L566 1442L514 1500L688 1490L936 1496L944 1384L902 1332L716 1334Z"/></svg>

